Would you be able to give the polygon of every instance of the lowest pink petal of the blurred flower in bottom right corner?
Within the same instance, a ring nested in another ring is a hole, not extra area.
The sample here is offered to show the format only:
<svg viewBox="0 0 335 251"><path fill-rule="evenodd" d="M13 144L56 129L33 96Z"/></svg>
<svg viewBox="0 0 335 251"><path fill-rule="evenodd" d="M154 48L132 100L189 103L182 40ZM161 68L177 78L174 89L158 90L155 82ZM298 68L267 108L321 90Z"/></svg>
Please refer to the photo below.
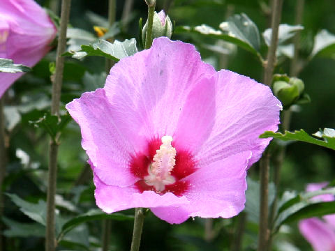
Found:
<svg viewBox="0 0 335 251"><path fill-rule="evenodd" d="M299 230L315 251L335 250L335 231L318 218L310 218L299 222Z"/></svg>

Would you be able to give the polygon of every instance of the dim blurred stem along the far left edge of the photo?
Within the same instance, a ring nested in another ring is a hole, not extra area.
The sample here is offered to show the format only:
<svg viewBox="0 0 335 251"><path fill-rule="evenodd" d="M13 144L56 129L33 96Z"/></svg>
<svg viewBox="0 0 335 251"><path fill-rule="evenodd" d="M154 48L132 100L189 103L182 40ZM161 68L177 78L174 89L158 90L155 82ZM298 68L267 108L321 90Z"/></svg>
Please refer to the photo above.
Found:
<svg viewBox="0 0 335 251"><path fill-rule="evenodd" d="M6 175L6 138L5 138L5 116L3 114L4 99L0 98L0 219L2 219L4 209L4 199L2 194L3 179ZM0 231L3 231L3 224L0 221ZM0 235L0 251L4 248L3 235Z"/></svg>

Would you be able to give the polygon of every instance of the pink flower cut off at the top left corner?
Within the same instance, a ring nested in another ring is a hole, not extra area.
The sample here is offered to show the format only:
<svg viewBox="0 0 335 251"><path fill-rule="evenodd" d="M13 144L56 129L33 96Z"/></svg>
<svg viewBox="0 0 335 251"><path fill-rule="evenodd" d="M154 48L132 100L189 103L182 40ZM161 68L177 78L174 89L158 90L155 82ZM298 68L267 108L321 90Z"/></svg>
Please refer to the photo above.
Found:
<svg viewBox="0 0 335 251"><path fill-rule="evenodd" d="M34 66L50 50L56 27L34 0L1 0L0 58ZM23 73L0 73L0 98Z"/></svg>

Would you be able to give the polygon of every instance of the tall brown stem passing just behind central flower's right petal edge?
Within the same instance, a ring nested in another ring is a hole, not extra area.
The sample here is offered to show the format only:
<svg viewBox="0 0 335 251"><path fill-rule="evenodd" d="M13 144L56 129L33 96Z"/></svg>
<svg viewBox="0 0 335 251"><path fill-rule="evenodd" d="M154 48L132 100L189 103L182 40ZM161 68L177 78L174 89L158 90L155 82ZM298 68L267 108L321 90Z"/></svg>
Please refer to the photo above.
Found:
<svg viewBox="0 0 335 251"><path fill-rule="evenodd" d="M276 50L278 44L278 27L281 22L281 9L283 0L274 0L271 10L271 42L265 63L264 84L271 86L274 65L276 63ZM266 149L260 160L260 231L258 236L258 251L266 251L269 241L269 151Z"/></svg>

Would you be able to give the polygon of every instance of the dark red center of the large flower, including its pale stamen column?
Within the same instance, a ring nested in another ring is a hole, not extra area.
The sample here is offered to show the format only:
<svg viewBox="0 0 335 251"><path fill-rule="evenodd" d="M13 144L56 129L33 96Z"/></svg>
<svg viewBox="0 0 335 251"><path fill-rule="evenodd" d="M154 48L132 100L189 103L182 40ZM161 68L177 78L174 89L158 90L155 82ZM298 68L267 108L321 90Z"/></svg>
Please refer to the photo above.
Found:
<svg viewBox="0 0 335 251"><path fill-rule="evenodd" d="M174 142L165 143L167 146L165 147L162 141L163 138L159 137L151 139L143 153L132 156L131 173L140 178L135 186L140 192L154 191L160 195L172 192L176 196L181 196L190 186L188 181L182 179L195 172L193 155L184 149L174 148Z"/></svg>

